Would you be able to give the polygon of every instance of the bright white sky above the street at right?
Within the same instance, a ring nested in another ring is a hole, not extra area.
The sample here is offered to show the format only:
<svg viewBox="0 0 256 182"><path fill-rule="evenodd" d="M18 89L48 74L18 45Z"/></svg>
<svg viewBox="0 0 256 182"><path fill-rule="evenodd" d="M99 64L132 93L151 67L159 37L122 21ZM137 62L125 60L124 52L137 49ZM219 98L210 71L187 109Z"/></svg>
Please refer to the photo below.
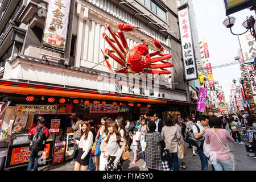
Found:
<svg viewBox="0 0 256 182"><path fill-rule="evenodd" d="M196 15L199 38L207 39L209 59L212 67L234 61L240 44L238 42L238 36L231 34L229 28L226 28L222 24L226 18L223 0L192 0L192 2ZM242 26L242 22L246 19L246 16L250 15L255 17L255 11L245 9L229 15L236 18L236 22L232 27L232 31L235 34L241 34L246 31ZM241 71L239 64L213 69L213 78L222 85L222 90L224 90L225 98L228 101L230 85L233 84L232 80L233 78L238 80L240 77Z"/></svg>

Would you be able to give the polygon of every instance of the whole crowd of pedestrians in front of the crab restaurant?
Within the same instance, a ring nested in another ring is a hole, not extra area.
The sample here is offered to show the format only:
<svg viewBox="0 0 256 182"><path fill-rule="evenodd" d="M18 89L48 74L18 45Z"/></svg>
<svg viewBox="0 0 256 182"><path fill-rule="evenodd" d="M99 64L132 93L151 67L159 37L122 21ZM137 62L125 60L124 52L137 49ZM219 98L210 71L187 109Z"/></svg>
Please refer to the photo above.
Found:
<svg viewBox="0 0 256 182"><path fill-rule="evenodd" d="M142 168L148 168L149 171L162 171L163 155L168 155L168 169L179 171L185 166L185 142L188 148L192 148L193 156L199 155L201 170L208 170L208 163L215 171L231 171L234 169L233 155L229 150L229 142L242 144L238 125L249 125L253 133L251 145L255 148L256 122L255 115L245 115L237 117L236 115L201 115L196 118L194 114L185 119L180 114L172 116L167 115L164 121L155 113L154 119L141 115L136 122L124 120L118 116L115 119L102 117L101 126L96 133L93 119L86 121L83 115L72 116L72 129L74 130L74 150L78 150L76 158L71 162L75 163L75 171L93 171L92 146L95 146L94 160L96 171L121 171L125 148L130 154L133 154L131 165L139 160L139 151L142 151ZM38 126L31 129L30 139L38 132L42 132L45 139L49 136L44 126L44 118L38 118ZM226 130L228 124L232 131L231 135ZM41 131L42 130L42 131ZM191 132L195 140L203 141L204 144L197 145L187 141L186 133ZM237 137L236 137L237 136ZM238 142L237 142L238 138ZM43 146L42 146L43 147ZM41 147L41 148L42 148ZM167 152L164 154L164 151ZM197 154L196 154L197 151ZM255 150L256 151L256 150ZM180 154L181 152L181 154ZM32 169L35 160L34 170L38 168L38 151L32 151L28 170ZM181 164L179 165L179 159Z"/></svg>

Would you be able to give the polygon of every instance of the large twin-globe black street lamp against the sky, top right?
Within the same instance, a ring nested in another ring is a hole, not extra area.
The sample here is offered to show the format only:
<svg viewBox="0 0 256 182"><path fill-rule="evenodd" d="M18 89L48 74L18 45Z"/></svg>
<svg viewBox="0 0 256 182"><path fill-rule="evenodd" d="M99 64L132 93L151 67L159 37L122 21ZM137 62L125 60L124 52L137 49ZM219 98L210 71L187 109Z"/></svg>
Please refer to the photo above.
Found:
<svg viewBox="0 0 256 182"><path fill-rule="evenodd" d="M242 35L242 34L245 34L247 31L250 30L251 36L253 36L256 40L256 33L255 33L255 29L254 29L255 19L253 18L253 16L250 16L250 17L247 16L246 20L243 21L242 26L245 27L247 30L245 32L243 32L242 34L234 34L232 32L232 27L234 26L235 22L236 22L236 18L234 18L233 16L228 16L224 20L223 24L226 28L230 29L230 32L233 35Z"/></svg>

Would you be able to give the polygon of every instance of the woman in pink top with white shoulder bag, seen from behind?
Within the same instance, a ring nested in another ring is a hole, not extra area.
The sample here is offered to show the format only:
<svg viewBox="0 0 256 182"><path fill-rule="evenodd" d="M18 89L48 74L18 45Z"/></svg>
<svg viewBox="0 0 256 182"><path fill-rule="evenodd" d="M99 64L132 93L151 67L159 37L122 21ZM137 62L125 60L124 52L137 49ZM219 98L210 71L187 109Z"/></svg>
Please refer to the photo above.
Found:
<svg viewBox="0 0 256 182"><path fill-rule="evenodd" d="M233 162L230 152L226 149L226 140L234 143L234 139L227 130L221 129L221 120L216 115L210 116L209 126L210 129L205 131L205 143L210 144L209 155L215 171L232 171Z"/></svg>

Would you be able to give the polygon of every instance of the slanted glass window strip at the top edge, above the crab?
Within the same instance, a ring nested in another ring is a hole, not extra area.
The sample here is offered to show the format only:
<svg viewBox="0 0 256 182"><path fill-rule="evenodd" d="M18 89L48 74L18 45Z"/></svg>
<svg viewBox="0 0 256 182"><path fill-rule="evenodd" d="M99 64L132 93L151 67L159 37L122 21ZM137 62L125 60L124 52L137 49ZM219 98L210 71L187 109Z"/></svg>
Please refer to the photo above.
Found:
<svg viewBox="0 0 256 182"><path fill-rule="evenodd" d="M137 0L140 3L142 3L144 6L147 7L147 9L150 9L153 11L156 15L158 15L159 18L163 19L166 22L166 11L164 11L162 8L160 8L158 5L156 5L155 2L152 0Z"/></svg>

